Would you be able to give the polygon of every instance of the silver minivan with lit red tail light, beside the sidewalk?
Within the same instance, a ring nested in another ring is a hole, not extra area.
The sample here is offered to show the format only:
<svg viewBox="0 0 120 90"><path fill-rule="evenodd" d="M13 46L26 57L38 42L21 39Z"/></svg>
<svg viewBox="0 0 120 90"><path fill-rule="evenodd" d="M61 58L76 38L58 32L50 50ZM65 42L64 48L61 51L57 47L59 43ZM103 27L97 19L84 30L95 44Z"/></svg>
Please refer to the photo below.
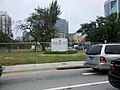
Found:
<svg viewBox="0 0 120 90"><path fill-rule="evenodd" d="M109 70L111 60L120 58L120 44L92 45L86 51L85 66L94 70Z"/></svg>

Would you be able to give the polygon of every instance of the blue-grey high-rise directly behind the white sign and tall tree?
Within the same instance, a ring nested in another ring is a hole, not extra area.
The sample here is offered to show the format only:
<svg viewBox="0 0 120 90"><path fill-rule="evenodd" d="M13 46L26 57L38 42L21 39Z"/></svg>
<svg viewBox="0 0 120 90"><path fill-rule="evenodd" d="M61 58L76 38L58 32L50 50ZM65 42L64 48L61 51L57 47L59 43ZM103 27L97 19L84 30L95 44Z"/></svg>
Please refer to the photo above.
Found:
<svg viewBox="0 0 120 90"><path fill-rule="evenodd" d="M59 19L56 22L57 30L61 37L66 37L68 35L68 22L65 19Z"/></svg>

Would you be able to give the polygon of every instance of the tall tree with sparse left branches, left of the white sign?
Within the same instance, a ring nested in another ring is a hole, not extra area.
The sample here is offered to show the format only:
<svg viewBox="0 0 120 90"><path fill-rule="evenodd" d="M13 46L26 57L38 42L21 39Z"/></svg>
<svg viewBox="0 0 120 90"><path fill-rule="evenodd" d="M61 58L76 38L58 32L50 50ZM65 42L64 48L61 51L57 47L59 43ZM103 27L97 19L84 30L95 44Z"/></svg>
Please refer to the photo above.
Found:
<svg viewBox="0 0 120 90"><path fill-rule="evenodd" d="M57 1L53 1L48 8L36 8L35 12L27 19L27 24L21 25L29 29L35 42L48 42L55 37L55 24L61 14ZM41 43L42 51L45 50L45 43Z"/></svg>

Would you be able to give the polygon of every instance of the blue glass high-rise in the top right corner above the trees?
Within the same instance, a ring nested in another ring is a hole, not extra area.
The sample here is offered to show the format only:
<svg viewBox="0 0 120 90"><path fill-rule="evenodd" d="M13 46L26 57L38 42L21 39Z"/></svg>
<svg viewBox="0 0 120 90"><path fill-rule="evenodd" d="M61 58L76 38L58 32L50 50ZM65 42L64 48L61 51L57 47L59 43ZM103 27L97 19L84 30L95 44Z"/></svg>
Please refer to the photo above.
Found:
<svg viewBox="0 0 120 90"><path fill-rule="evenodd" d="M118 0L118 9L120 12L120 0ZM117 0L107 0L104 3L105 16L117 12Z"/></svg>

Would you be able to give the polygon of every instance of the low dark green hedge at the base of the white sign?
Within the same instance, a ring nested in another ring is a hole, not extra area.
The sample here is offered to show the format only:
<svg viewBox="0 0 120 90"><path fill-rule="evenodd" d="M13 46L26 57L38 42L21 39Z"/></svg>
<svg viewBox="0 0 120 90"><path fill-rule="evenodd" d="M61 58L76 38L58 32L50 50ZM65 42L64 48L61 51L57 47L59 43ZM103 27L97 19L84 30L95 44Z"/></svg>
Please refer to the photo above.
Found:
<svg viewBox="0 0 120 90"><path fill-rule="evenodd" d="M44 54L75 54L77 50L68 50L68 51L45 51Z"/></svg>

